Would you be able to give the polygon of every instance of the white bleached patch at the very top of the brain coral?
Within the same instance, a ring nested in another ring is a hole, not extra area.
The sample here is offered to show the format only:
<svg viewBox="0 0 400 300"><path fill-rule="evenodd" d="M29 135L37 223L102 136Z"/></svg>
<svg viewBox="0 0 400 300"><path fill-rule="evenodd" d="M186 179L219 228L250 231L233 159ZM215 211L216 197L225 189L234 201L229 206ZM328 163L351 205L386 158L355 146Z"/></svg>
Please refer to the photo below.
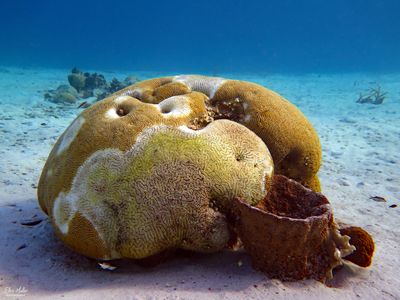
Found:
<svg viewBox="0 0 400 300"><path fill-rule="evenodd" d="M207 77L200 75L178 75L173 78L176 82L181 82L192 91L206 94L212 99L226 79L221 77Z"/></svg>

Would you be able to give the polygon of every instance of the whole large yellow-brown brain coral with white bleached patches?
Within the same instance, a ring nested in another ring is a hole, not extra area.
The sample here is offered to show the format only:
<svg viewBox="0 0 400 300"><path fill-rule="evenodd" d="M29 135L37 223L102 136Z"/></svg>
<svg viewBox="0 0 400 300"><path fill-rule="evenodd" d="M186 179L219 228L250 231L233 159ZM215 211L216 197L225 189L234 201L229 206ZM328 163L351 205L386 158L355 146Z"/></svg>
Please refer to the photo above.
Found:
<svg viewBox="0 0 400 300"><path fill-rule="evenodd" d="M318 136L290 102L216 77L146 80L83 111L54 145L38 198L57 235L98 259L222 249L234 198L273 172L319 190Z"/></svg>

